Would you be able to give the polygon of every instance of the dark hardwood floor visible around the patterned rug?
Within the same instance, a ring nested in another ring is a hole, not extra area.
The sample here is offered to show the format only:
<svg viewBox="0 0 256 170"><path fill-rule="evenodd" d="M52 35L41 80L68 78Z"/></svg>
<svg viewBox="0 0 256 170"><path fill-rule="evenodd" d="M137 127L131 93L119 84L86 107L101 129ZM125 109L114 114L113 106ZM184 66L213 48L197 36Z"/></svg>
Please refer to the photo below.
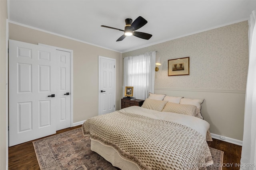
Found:
<svg viewBox="0 0 256 170"><path fill-rule="evenodd" d="M76 129L78 127L81 127L81 125L62 129L57 131L56 134ZM9 147L9 170L40 170L32 142L33 141L29 141L20 145ZM239 167L235 167L234 164L240 163L242 151L241 146L217 139L213 139L212 142L208 142L208 145L209 147L224 151L224 165L231 165L233 163L232 167L223 167L222 170L239 170Z"/></svg>

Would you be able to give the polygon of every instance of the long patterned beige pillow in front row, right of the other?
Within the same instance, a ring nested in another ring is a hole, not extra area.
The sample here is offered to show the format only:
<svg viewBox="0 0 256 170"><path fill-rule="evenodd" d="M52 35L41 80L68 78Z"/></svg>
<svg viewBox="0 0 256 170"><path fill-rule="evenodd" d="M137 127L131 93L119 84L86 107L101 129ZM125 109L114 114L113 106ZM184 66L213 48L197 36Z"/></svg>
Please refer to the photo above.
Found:
<svg viewBox="0 0 256 170"><path fill-rule="evenodd" d="M180 113L184 115L195 116L196 115L196 106L190 104L176 104L168 102L162 111Z"/></svg>

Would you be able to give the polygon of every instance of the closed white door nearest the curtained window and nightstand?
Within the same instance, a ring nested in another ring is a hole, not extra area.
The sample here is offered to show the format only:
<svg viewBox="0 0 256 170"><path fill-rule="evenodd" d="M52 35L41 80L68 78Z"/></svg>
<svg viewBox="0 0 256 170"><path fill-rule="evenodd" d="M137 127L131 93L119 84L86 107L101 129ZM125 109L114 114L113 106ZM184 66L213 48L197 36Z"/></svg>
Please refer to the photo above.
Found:
<svg viewBox="0 0 256 170"><path fill-rule="evenodd" d="M116 110L115 60L99 56L100 115Z"/></svg>

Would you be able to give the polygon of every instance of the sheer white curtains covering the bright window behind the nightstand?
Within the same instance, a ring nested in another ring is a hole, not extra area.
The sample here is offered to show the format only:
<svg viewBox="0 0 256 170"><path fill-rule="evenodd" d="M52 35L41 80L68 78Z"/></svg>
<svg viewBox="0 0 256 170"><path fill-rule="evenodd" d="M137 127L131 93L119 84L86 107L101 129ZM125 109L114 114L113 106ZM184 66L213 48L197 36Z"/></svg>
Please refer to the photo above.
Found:
<svg viewBox="0 0 256 170"><path fill-rule="evenodd" d="M133 87L133 97L145 100L154 93L156 51L124 58L124 89Z"/></svg>

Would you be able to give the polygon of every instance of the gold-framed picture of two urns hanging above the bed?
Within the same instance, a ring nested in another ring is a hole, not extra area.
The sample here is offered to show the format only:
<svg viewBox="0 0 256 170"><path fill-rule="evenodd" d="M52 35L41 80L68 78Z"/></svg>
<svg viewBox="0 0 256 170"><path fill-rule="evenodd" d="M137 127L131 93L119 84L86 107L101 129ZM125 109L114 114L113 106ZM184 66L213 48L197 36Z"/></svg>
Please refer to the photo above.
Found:
<svg viewBox="0 0 256 170"><path fill-rule="evenodd" d="M189 75L189 57L168 60L168 76Z"/></svg>

